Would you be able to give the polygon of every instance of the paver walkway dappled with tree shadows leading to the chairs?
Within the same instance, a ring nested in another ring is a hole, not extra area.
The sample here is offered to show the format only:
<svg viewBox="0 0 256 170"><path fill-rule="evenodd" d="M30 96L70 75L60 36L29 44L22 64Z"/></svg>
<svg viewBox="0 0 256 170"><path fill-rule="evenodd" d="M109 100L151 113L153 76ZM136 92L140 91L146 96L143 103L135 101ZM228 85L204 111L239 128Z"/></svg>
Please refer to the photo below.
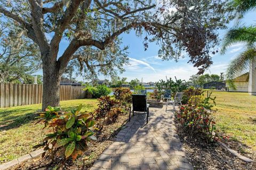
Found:
<svg viewBox="0 0 256 170"><path fill-rule="evenodd" d="M193 169L175 134L174 115L165 109L149 108L145 115L132 117L93 164L94 169Z"/></svg>

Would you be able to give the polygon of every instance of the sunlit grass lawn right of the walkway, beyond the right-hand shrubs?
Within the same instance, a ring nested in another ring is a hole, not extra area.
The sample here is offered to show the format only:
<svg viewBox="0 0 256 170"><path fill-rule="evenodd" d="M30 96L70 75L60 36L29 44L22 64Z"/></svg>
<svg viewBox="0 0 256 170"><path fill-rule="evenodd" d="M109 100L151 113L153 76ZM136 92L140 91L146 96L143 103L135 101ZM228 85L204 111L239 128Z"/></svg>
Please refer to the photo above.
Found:
<svg viewBox="0 0 256 170"><path fill-rule="evenodd" d="M256 151L256 96L236 92L213 92L211 96L216 96L214 117L221 132Z"/></svg>

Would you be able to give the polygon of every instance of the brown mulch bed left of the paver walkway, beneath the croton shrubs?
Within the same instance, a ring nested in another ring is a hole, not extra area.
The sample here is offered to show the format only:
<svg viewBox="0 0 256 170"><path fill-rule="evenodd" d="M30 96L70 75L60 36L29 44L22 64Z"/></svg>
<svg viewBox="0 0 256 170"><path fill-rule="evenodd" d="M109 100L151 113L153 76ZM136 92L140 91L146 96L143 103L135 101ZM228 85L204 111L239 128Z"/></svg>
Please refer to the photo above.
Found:
<svg viewBox="0 0 256 170"><path fill-rule="evenodd" d="M103 150L113 142L114 137L124 127L128 117L128 114L119 115L116 123L105 125L101 133L95 134L95 136L97 137L97 141L90 142L89 149L84 153L83 156L79 157L76 161L74 161L74 163L71 160L68 160L64 165L62 165L62 158L58 158L56 161L52 163L49 155L46 155L44 158L41 158L41 156L39 156L33 159L29 159L21 164L10 167L9 169L90 169L94 161L97 160L97 158L100 156Z"/></svg>

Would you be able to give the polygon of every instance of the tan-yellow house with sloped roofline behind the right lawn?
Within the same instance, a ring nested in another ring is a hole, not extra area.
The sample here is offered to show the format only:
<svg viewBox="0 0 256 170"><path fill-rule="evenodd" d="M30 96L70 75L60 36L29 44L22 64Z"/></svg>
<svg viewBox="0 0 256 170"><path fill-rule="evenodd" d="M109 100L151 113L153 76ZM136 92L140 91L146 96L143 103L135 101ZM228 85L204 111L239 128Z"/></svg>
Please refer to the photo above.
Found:
<svg viewBox="0 0 256 170"><path fill-rule="evenodd" d="M248 92L249 90L249 72L246 72L245 74L238 76L232 80L233 84L235 85L236 89L230 87L229 83L226 83L226 86L228 87L228 91L230 92ZM255 82L256 83L256 82Z"/></svg>

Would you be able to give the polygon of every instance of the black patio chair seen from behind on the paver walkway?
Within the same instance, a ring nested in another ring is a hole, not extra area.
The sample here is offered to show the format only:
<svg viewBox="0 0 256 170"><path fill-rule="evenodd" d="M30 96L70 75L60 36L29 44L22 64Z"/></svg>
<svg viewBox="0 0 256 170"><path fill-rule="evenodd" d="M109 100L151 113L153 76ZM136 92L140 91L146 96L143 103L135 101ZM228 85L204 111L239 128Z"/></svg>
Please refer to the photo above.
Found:
<svg viewBox="0 0 256 170"><path fill-rule="evenodd" d="M148 123L149 104L147 104L146 94L132 94L132 110L130 108L129 122L131 120L131 112L133 116L134 112L137 112L136 114L147 114Z"/></svg>

